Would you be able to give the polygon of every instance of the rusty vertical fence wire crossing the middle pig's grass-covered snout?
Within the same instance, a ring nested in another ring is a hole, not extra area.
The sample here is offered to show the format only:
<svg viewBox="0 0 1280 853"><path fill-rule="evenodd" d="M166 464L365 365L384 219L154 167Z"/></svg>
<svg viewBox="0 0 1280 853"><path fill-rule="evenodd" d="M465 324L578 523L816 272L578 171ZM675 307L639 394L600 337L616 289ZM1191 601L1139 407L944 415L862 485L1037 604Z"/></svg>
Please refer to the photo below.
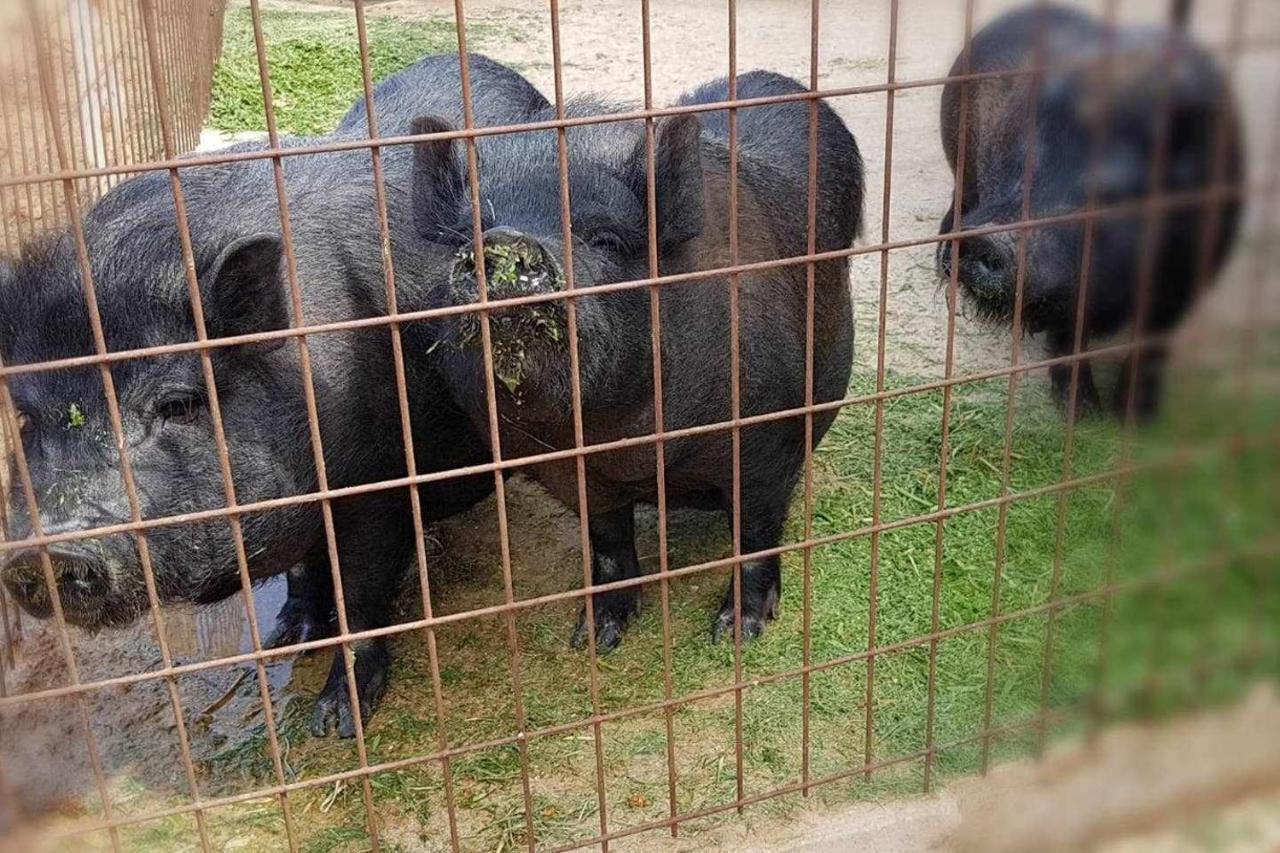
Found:
<svg viewBox="0 0 1280 853"><path fill-rule="evenodd" d="M471 67L467 56L467 28L463 0L453 0L453 15L458 28L458 61L462 82L462 117L467 131L475 129L475 109L471 97ZM471 236L475 243L476 257L476 289L479 291L480 309L480 342L484 348L484 383L485 398L489 409L489 442L493 450L493 461L502 461L502 433L498 428L498 394L494 388L493 375L493 337L489 328L489 311L484 310L489 301L489 284L484 264L484 229L481 225L480 210L480 159L476 152L476 140L474 136L466 137L467 146L467 175L471 191ZM502 585L503 598L507 605L516 599L515 587L511 576L511 529L507 524L507 488L502 471L493 473L494 492L498 508L498 543L502 553ZM520 752L520 786L525 806L525 843L534 853L538 845L538 836L534 831L534 803L529 790L529 739L526 736L527 716L525 715L525 689L524 667L520 654L520 637L516 633L516 615L513 610L504 612L507 622L507 651L511 656L511 689L516 710L516 727L518 730L517 749Z"/></svg>

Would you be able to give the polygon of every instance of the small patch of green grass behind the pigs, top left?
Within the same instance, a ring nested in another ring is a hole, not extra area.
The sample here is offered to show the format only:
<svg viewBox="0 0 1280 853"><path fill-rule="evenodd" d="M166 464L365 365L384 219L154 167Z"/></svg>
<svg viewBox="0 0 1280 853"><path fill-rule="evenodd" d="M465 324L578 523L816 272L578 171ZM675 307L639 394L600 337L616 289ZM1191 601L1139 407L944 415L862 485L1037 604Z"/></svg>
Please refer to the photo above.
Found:
<svg viewBox="0 0 1280 853"><path fill-rule="evenodd" d="M452 15L415 20L370 15L366 23L375 82L426 54L458 47ZM214 72L210 124L229 133L265 131L250 10L239 6L228 10L224 28L223 56ZM262 35L280 132L315 136L333 131L364 93L355 15L349 12L265 10ZM481 49L497 35L499 31L493 24L467 26L472 49ZM507 37L518 37L518 33Z"/></svg>

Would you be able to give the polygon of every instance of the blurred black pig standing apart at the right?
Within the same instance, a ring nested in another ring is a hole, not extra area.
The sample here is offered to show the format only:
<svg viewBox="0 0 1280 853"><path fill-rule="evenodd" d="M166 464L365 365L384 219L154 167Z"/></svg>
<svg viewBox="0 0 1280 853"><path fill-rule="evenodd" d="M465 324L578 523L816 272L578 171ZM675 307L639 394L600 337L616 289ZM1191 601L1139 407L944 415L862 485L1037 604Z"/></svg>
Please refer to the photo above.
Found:
<svg viewBox="0 0 1280 853"><path fill-rule="evenodd" d="M1165 53L1170 47L1166 85ZM1075 10L1023 9L974 36L968 55L956 60L951 73L961 74L965 68L975 74L1028 68L1037 60L1050 68L1039 85L1028 74L968 83L969 138L964 175L956 177L963 181L960 224L965 229L1023 219L1028 143L1036 146L1033 219L1084 210L1091 192L1100 206L1116 206L1132 205L1157 188L1167 193L1207 190L1215 179L1219 128L1224 133L1225 149L1220 152L1225 168L1216 177L1226 186L1240 181L1243 151L1228 82L1213 60L1180 29L1107 31ZM1036 138L1028 140L1028 117L1033 111ZM1164 122L1167 131L1161 128ZM959 126L960 83L948 83L942 93L942 145L952 172L960 151ZM1166 168L1153 183L1152 163L1161 132L1167 132ZM1138 211L1096 219L1080 329L1084 343L1091 337L1114 334L1137 319L1139 287L1149 288L1143 329L1158 334L1175 327L1194 301L1201 270L1212 275L1222 265L1236 234L1239 210L1236 196L1166 207L1151 218L1149 232ZM948 210L942 232L952 231L955 222L954 209ZM1074 350L1084 232L1082 220L1025 232L1023 323L1028 332L1047 336L1051 356ZM1007 323L1014 315L1018 242L1015 231L960 242L959 286L984 319ZM1144 243L1153 251L1153 263L1143 286ZM943 278L951 275L951 241L938 246ZM1132 393L1135 411L1148 418L1158 403L1165 352L1152 343L1132 357L1139 359L1138 384L1130 391L1126 365L1115 409L1124 411ZM1055 396L1064 406L1070 375L1070 365L1051 369ZM1080 362L1079 402L1085 412L1101 406L1088 361Z"/></svg>

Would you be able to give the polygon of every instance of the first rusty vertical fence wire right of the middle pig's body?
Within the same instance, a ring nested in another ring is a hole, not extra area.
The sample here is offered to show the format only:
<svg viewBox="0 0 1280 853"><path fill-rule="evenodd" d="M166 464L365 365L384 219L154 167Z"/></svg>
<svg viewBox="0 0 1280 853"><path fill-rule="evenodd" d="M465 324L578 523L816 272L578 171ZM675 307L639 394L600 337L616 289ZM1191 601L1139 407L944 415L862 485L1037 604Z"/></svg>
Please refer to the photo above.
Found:
<svg viewBox="0 0 1280 853"><path fill-rule="evenodd" d="M891 0L890 3L890 19L888 19L888 72L886 74L886 82L890 86L884 91L884 181L881 192L881 242L888 242L890 234L890 213L891 202L893 199L893 102L895 102L895 90L892 88L897 77L897 24L899 24L899 0ZM973 0L968 4L968 19L973 20ZM968 26L965 29L965 44L969 40ZM961 92L968 91L965 85ZM960 108L960 127L964 127L964 95L961 95L961 108ZM964 132L961 132L964 137ZM956 175L956 197L959 199L961 190L961 175L964 174L964 146L960 147L960 164L961 169ZM956 202L956 210L959 210L959 202ZM956 220L956 231L959 231L959 220ZM886 380L886 338L888 333L888 250L881 251L881 286L879 286L879 316L877 320L877 342L876 342L876 393L884 393L884 380ZM868 597L868 610L867 610L867 697L864 699L864 720L863 720L863 766L865 771L863 779L870 781L872 779L872 765L876 758L876 629L879 617L879 553L881 553L881 511L882 511L882 493L884 485L884 400L876 400L876 439L874 448L872 451L872 526L877 528L872 533L870 538L870 580L867 592Z"/></svg>

